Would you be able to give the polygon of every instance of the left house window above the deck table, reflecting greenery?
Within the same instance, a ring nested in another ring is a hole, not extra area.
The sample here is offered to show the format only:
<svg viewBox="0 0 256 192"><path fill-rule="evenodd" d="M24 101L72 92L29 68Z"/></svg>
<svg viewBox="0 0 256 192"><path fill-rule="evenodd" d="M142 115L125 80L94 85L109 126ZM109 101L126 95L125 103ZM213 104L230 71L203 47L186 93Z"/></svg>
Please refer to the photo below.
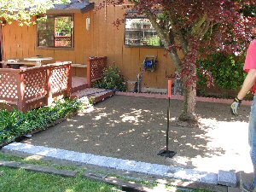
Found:
<svg viewBox="0 0 256 192"><path fill-rule="evenodd" d="M73 48L73 15L38 20L38 47Z"/></svg>

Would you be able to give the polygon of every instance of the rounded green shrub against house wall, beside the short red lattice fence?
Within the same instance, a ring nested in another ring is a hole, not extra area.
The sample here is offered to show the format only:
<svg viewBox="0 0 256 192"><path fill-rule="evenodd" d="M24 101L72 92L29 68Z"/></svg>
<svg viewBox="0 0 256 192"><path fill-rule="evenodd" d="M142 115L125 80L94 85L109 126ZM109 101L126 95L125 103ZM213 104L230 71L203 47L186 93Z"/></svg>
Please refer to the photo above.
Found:
<svg viewBox="0 0 256 192"><path fill-rule="evenodd" d="M122 75L120 75L117 67L110 66L104 70L103 74L103 79L97 80L93 84L93 87L106 90L126 90L125 79Z"/></svg>

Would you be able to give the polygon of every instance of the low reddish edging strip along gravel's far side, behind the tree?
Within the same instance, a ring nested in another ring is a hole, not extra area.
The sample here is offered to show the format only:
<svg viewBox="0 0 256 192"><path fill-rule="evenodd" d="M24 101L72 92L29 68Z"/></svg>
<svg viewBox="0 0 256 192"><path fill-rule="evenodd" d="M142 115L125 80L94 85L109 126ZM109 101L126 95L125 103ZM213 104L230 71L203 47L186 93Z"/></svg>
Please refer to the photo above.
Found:
<svg viewBox="0 0 256 192"><path fill-rule="evenodd" d="M148 97L148 98L167 99L166 94L156 94L156 93L133 93L133 92L116 91L115 95L142 96L142 97ZM183 96L172 96L171 99L183 100ZM203 97L203 96L196 96L195 100L196 102L217 102L217 103L224 103L224 104L231 104L234 101L233 99L221 99L221 98ZM253 101L242 101L241 105L250 106L252 105L252 103Z"/></svg>

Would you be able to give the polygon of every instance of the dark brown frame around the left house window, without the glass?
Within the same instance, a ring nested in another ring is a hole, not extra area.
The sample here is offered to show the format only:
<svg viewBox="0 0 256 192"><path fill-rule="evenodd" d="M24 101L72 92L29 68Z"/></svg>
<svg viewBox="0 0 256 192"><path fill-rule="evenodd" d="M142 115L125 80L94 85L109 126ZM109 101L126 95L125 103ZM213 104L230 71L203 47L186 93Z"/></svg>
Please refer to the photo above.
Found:
<svg viewBox="0 0 256 192"><path fill-rule="evenodd" d="M37 21L37 34L36 34L36 44L37 44L37 49L58 49L58 50L61 50L61 49L64 49L64 50L73 50L74 49L74 15L73 14L58 14L58 15L47 15L47 16L50 16L50 17L65 17L65 16L69 16L71 17L71 20L73 21L73 30L72 30L72 35L71 35L71 44L72 46L71 47L55 47L55 46L39 46L39 42L38 42L38 39L39 39L39 32L38 32L38 21ZM43 17L42 15L41 16L38 16L38 18L40 17Z"/></svg>

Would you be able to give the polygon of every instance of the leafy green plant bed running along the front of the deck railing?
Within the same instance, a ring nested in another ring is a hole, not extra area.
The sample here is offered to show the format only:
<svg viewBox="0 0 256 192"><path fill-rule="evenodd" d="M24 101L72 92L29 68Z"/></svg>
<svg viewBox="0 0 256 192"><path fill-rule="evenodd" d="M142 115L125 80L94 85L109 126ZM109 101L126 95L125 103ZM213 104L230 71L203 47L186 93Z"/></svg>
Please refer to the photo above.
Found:
<svg viewBox="0 0 256 192"><path fill-rule="evenodd" d="M64 99L55 102L50 107L33 109L27 113L21 113L16 109L12 112L5 108L0 110L0 144L9 143L16 137L25 135L34 130L43 130L57 119L68 117L81 108L77 100Z"/></svg>

